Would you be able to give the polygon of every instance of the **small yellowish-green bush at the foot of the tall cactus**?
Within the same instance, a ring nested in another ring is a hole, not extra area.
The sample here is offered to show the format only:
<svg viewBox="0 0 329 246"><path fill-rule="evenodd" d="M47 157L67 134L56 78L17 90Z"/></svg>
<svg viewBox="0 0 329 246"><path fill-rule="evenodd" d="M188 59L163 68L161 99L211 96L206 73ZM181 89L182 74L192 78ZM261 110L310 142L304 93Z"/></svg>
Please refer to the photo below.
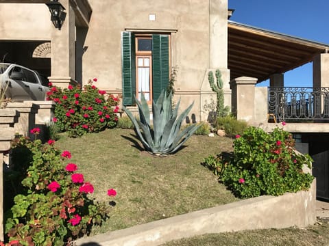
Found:
<svg viewBox="0 0 329 246"><path fill-rule="evenodd" d="M229 137L243 133L248 124L244 120L236 120L233 116L219 117L216 119L215 128L223 129Z"/></svg>

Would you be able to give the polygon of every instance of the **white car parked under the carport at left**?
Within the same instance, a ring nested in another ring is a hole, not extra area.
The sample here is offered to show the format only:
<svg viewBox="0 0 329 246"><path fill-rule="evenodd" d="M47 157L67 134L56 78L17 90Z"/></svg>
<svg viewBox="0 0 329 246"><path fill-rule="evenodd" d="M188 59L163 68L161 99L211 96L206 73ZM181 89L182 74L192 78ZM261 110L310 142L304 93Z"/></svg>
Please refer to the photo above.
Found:
<svg viewBox="0 0 329 246"><path fill-rule="evenodd" d="M12 101L45 100L49 91L38 72L17 64L0 63L0 82L1 93L5 91L5 98Z"/></svg>

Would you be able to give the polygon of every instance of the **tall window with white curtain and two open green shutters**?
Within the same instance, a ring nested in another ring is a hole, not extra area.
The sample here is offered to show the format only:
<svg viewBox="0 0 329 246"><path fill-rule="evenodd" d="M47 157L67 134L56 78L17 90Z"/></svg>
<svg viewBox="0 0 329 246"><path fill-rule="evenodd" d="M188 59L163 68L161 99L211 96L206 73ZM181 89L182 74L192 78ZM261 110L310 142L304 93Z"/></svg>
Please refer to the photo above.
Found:
<svg viewBox="0 0 329 246"><path fill-rule="evenodd" d="M169 83L169 35L121 33L123 105L134 105L134 95L158 100ZM148 85L149 83L149 85Z"/></svg>

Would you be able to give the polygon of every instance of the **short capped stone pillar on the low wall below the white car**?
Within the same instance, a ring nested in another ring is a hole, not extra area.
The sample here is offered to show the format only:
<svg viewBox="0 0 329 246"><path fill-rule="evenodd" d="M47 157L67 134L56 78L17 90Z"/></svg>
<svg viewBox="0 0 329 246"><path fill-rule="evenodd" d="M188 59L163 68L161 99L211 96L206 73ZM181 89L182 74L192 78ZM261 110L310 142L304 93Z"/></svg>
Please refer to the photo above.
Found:
<svg viewBox="0 0 329 246"><path fill-rule="evenodd" d="M19 111L19 122L14 124L15 133L32 137L29 131L36 125L36 113L38 112L39 106L31 101L8 102L6 109L16 109L16 111Z"/></svg>

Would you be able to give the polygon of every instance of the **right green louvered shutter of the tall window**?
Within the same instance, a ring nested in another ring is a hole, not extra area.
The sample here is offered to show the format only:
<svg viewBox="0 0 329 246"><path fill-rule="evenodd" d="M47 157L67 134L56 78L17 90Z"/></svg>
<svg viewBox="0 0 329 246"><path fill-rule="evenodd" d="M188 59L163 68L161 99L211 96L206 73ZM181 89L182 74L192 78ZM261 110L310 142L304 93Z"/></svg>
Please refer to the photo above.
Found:
<svg viewBox="0 0 329 246"><path fill-rule="evenodd" d="M169 83L169 36L152 36L152 81L153 100L158 100L162 90L167 90Z"/></svg>

